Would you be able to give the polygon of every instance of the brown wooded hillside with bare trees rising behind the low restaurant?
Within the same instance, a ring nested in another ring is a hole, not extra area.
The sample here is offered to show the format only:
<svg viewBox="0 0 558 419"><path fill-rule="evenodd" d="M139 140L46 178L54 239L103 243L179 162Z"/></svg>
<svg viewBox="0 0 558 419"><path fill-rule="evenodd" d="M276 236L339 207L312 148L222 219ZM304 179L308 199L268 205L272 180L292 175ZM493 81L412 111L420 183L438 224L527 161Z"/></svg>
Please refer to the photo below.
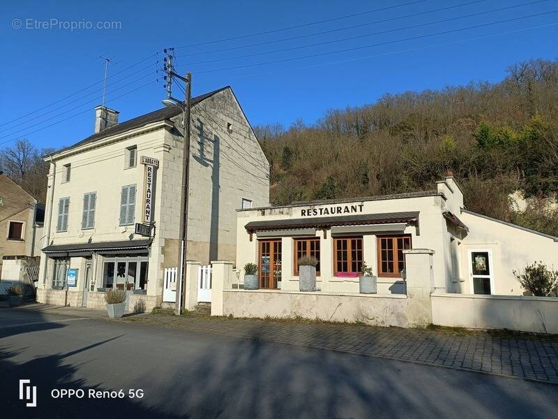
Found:
<svg viewBox="0 0 558 419"><path fill-rule="evenodd" d="M558 192L558 60L515 64L497 84L386 94L312 126L255 131L274 204L435 189L451 171L469 210L558 235L549 205ZM525 212L510 205L516 190L530 198Z"/></svg>

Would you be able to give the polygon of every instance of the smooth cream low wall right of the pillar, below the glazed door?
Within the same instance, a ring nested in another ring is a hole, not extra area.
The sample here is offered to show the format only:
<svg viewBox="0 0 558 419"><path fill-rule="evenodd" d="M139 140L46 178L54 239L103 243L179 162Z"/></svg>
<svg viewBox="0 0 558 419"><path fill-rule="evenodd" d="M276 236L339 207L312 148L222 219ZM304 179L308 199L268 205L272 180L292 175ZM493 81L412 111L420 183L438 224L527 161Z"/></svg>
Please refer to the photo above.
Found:
<svg viewBox="0 0 558 419"><path fill-rule="evenodd" d="M432 294L432 323L558 334L558 298Z"/></svg>

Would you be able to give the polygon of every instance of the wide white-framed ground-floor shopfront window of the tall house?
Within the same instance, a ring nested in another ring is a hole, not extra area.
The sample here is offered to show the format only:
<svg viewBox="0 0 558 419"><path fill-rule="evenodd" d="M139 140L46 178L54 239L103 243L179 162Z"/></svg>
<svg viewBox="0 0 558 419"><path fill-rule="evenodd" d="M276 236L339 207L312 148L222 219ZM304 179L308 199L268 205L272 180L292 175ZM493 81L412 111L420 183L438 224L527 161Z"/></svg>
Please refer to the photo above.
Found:
<svg viewBox="0 0 558 419"><path fill-rule="evenodd" d="M148 265L146 256L105 258L103 288L145 290Z"/></svg>

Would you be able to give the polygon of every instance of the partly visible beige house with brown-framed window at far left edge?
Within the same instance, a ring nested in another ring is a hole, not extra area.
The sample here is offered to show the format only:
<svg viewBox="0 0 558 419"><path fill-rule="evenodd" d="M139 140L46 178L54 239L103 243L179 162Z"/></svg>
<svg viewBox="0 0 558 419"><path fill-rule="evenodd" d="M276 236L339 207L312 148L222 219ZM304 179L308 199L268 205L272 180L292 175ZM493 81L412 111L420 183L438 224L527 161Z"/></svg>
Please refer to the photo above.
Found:
<svg viewBox="0 0 558 419"><path fill-rule="evenodd" d="M22 265L36 263L44 218L43 204L0 172L0 280L19 281Z"/></svg>

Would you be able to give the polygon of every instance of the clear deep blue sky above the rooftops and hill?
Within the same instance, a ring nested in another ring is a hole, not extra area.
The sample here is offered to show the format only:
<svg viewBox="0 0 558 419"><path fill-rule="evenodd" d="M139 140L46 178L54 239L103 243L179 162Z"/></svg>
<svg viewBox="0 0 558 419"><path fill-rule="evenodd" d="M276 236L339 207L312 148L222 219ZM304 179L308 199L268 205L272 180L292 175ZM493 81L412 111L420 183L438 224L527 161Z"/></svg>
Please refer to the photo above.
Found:
<svg viewBox="0 0 558 419"><path fill-rule="evenodd" d="M15 138L61 147L90 135L100 56L114 61L106 104L121 121L161 107L157 52L174 46L178 71L193 73L194 95L230 84L252 125L288 127L386 92L497 82L517 61L556 59L554 10L557 0L10 1L0 19L0 147ZM81 28L68 29L71 22ZM220 41L228 38L236 39Z"/></svg>

